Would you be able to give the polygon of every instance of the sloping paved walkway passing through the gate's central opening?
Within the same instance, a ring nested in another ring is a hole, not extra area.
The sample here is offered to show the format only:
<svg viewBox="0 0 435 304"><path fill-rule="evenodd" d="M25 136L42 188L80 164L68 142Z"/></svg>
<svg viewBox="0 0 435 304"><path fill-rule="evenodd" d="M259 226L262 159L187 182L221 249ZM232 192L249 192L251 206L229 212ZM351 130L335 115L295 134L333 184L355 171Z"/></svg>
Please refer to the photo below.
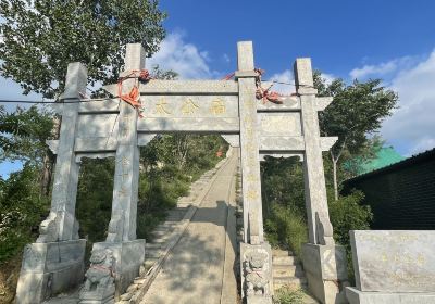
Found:
<svg viewBox="0 0 435 304"><path fill-rule="evenodd" d="M233 271L237 162L233 153L222 166L141 304L237 303Z"/></svg>

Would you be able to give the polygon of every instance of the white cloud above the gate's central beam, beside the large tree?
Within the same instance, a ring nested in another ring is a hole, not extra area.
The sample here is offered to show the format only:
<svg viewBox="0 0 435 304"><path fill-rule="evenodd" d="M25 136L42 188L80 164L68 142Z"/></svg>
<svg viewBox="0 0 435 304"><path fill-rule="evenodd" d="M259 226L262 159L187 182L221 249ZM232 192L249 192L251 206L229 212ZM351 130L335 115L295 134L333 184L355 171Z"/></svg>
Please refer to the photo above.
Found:
<svg viewBox="0 0 435 304"><path fill-rule="evenodd" d="M184 34L179 31L171 33L162 41L160 50L148 60L147 65L159 64L163 69L173 69L178 73L179 78L213 78L217 75L211 71L208 62L209 53L184 41Z"/></svg>

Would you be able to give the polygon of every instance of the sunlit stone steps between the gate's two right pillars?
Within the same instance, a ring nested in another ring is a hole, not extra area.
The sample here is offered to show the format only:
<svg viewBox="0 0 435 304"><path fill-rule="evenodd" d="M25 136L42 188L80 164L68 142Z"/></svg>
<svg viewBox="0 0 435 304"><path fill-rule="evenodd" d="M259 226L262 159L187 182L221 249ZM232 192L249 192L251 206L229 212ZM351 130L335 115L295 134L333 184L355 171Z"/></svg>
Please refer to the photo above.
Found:
<svg viewBox="0 0 435 304"><path fill-rule="evenodd" d="M304 304L318 304L311 295L308 294L308 281L303 273L303 267L298 257L290 251L272 250L273 267L273 288L278 290L282 287L288 287L291 290L304 291Z"/></svg>

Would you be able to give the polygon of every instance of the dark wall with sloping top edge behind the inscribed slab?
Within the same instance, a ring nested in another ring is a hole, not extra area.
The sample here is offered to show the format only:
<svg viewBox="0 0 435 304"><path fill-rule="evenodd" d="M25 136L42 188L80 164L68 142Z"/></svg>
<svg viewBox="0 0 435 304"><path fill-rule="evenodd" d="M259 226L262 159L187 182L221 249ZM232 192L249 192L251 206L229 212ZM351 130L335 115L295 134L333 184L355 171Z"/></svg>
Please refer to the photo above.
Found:
<svg viewBox="0 0 435 304"><path fill-rule="evenodd" d="M373 229L435 229L435 149L345 182L352 188L365 193Z"/></svg>

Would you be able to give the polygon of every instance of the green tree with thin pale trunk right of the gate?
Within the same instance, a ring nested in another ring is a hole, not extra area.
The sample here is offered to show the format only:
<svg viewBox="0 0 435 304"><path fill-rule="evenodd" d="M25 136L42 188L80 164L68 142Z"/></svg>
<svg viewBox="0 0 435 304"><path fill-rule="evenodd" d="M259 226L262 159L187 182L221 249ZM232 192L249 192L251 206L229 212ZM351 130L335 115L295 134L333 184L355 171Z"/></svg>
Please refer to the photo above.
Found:
<svg viewBox="0 0 435 304"><path fill-rule="evenodd" d="M337 168L347 155L356 155L366 147L371 134L375 134L383 119L391 115L398 96L381 86L381 79L365 83L355 80L346 85L343 79L325 84L320 72L314 73L314 86L319 96L331 96L333 102L320 113L323 136L338 136L330 150L333 164L334 199L338 200Z"/></svg>

